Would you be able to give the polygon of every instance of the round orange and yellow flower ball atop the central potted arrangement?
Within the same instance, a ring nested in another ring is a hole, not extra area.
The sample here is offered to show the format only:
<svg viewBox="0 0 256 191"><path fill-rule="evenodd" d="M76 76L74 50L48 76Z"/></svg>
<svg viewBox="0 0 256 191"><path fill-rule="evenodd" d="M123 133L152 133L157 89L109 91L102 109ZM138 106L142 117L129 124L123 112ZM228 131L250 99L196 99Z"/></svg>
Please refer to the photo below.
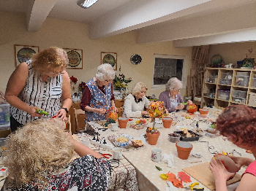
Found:
<svg viewBox="0 0 256 191"><path fill-rule="evenodd" d="M150 117L153 118L162 118L166 114L163 101L150 101L147 110Z"/></svg>

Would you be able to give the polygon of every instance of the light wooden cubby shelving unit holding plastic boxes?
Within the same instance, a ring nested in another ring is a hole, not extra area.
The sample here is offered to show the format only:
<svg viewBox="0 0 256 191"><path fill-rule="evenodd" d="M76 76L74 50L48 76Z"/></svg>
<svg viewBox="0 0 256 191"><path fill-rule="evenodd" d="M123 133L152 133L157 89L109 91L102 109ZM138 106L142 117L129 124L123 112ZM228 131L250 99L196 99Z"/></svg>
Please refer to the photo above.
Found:
<svg viewBox="0 0 256 191"><path fill-rule="evenodd" d="M220 84L223 73L229 72L233 75L231 85ZM236 76L238 72L249 72L249 85L248 87L236 85ZM225 108L233 104L242 104L234 101L233 90L246 91L246 101L245 105L249 102L249 93L256 93L256 87L252 87L253 78L255 78L255 69L230 69L230 68L206 68L205 75L203 79L203 91L202 91L202 101L201 106L204 104L213 104L218 108ZM217 75L217 80L211 80L207 82L208 77L213 77ZM218 98L218 90L230 90L230 98L228 100ZM209 94L209 91L212 93ZM214 97L215 93L215 97ZM256 107L256 106L253 106Z"/></svg>

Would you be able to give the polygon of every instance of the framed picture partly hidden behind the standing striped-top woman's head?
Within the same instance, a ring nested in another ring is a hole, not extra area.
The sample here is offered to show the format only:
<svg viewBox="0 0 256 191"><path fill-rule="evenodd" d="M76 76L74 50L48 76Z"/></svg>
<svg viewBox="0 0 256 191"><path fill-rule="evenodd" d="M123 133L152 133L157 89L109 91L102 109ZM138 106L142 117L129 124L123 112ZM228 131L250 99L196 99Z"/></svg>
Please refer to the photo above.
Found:
<svg viewBox="0 0 256 191"><path fill-rule="evenodd" d="M63 48L67 52L69 64L67 69L83 69L83 50Z"/></svg>

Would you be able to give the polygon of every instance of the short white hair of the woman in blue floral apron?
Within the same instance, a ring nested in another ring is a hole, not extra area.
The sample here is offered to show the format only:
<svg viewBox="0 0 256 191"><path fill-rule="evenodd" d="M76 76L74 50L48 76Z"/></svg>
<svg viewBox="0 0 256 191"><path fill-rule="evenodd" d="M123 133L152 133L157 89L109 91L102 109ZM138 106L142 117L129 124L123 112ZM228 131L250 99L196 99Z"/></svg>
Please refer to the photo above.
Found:
<svg viewBox="0 0 256 191"><path fill-rule="evenodd" d="M99 65L97 68L96 77L99 81L104 81L106 79L114 79L116 76L116 71L113 70L113 66L109 63L104 63Z"/></svg>

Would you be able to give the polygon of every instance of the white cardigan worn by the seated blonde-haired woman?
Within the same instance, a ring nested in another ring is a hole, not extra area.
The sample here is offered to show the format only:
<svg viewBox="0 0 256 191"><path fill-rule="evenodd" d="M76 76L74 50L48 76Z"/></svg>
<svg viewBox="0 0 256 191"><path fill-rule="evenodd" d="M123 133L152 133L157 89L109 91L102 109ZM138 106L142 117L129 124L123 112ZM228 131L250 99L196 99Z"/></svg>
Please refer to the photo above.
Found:
<svg viewBox="0 0 256 191"><path fill-rule="evenodd" d="M124 101L124 117L141 117L144 107L148 108L149 101L144 95L142 101L136 103L134 96L130 93Z"/></svg>

